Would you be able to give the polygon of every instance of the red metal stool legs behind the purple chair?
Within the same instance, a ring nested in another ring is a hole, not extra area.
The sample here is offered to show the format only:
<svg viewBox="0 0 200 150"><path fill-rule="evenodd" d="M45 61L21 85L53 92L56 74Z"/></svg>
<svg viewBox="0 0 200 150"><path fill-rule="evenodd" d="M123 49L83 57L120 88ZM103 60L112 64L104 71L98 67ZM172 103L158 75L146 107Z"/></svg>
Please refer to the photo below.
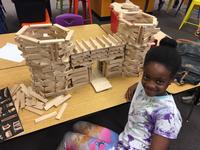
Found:
<svg viewBox="0 0 200 150"><path fill-rule="evenodd" d="M74 8L73 13L78 14L78 8L79 8L78 2L79 1L82 1L84 23L88 20L88 18L87 18L87 10L88 10L89 22L92 24L92 10L91 10L91 5L90 5L90 0L73 0L73 8ZM71 9L72 9L72 0L69 1L69 12L70 13L72 12Z"/></svg>

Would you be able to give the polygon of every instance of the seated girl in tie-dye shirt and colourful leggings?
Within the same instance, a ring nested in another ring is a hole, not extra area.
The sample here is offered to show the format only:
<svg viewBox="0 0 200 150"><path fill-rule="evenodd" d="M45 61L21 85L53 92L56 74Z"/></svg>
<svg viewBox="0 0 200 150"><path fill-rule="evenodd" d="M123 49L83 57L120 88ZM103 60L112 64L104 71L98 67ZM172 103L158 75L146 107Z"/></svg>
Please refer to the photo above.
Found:
<svg viewBox="0 0 200 150"><path fill-rule="evenodd" d="M182 124L173 96L166 92L180 65L173 46L164 42L151 48L145 56L142 80L126 93L132 101L124 131L118 136L110 129L77 122L58 150L167 150Z"/></svg>

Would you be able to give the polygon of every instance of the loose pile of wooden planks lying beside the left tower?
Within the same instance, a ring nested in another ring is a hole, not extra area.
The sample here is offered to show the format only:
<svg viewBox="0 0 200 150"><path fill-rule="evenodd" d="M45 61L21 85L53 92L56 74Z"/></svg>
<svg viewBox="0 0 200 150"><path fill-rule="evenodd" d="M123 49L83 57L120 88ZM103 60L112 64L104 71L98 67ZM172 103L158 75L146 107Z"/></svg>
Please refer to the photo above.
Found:
<svg viewBox="0 0 200 150"><path fill-rule="evenodd" d="M21 110L27 110L39 115L39 118L35 119L35 123L51 117L61 119L62 113L65 111L67 105L66 101L71 97L70 94L60 95L48 100L34 92L30 86L27 87L24 84L14 85L10 88L10 93L18 113L20 113ZM59 106L61 107L58 108ZM48 112L52 107L58 109L53 113Z"/></svg>

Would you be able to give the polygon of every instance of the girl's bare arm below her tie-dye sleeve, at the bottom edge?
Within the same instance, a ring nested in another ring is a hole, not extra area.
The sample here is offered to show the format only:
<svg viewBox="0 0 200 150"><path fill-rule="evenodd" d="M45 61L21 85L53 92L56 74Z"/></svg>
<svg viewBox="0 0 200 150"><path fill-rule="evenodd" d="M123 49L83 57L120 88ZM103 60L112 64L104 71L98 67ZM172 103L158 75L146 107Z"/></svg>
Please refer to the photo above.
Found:
<svg viewBox="0 0 200 150"><path fill-rule="evenodd" d="M168 138L153 134L150 150L168 150L169 142Z"/></svg>

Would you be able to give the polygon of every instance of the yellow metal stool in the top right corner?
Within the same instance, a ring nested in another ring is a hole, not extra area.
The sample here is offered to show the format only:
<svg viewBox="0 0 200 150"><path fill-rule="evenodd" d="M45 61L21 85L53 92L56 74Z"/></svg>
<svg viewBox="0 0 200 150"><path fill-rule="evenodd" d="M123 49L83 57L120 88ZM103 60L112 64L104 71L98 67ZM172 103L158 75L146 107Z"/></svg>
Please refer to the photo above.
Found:
<svg viewBox="0 0 200 150"><path fill-rule="evenodd" d="M199 24L188 22L188 19L190 18L191 12L192 12L192 10L193 10L193 8L194 8L195 5L200 6L200 0L193 0L192 1L192 3L190 4L189 9L187 10L187 13L186 13L185 17L183 18L183 21L181 22L181 25L179 26L179 30L183 27L183 25L185 23L188 23L188 24L200 27Z"/></svg>

